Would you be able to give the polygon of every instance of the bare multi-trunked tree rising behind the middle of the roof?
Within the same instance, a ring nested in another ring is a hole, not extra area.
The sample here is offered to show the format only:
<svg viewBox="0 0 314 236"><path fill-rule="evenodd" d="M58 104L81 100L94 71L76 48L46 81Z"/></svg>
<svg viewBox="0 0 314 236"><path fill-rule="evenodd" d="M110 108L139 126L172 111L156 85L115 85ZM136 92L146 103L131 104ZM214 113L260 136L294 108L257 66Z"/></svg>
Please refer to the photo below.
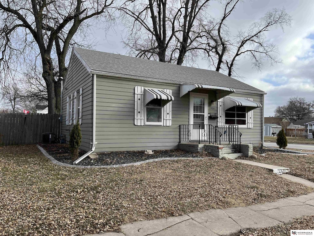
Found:
<svg viewBox="0 0 314 236"><path fill-rule="evenodd" d="M125 45L130 54L182 65L187 53L203 51L209 56L203 21L210 0L126 1L120 10L129 17ZM130 20L132 19L132 20Z"/></svg>

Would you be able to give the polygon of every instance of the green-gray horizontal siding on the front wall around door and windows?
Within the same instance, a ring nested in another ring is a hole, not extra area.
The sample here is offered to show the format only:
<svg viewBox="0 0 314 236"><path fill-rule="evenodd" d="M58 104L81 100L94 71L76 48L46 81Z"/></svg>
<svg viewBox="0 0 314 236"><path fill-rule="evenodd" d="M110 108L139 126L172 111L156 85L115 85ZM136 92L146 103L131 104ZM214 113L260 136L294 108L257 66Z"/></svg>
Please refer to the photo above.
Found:
<svg viewBox="0 0 314 236"><path fill-rule="evenodd" d="M150 81L131 80L109 76L96 78L96 149L95 152L126 150L176 149L179 143L179 125L189 124L190 93L180 98L178 84L161 84ZM172 101L171 126L136 126L134 125L134 88L171 89ZM215 92L195 89L193 93L207 93L208 106L214 107L208 113L217 113L217 101L214 104ZM262 95L236 93L234 96L253 98L263 105ZM243 143L262 142L262 108L254 110L252 129L241 128ZM208 124L217 125L216 119L209 119Z"/></svg>

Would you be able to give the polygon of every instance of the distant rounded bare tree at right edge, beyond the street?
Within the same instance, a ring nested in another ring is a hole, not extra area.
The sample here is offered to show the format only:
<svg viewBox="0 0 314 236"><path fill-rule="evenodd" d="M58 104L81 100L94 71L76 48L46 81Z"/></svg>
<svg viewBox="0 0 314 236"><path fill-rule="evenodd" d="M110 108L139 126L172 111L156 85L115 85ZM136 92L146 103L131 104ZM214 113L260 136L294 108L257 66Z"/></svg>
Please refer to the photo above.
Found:
<svg viewBox="0 0 314 236"><path fill-rule="evenodd" d="M314 100L307 102L305 98L291 97L284 106L275 109L275 116L286 117L290 121L305 120L314 115Z"/></svg>

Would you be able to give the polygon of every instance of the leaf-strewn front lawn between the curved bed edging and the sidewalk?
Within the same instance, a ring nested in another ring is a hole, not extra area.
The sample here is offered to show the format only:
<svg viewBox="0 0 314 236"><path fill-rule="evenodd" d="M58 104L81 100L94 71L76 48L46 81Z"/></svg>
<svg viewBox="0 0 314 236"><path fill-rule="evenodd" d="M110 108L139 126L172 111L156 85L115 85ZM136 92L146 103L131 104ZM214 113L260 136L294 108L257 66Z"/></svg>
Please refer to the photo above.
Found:
<svg viewBox="0 0 314 236"><path fill-rule="evenodd" d="M0 148L0 235L84 235L125 222L245 206L313 189L232 160L114 169L53 165L35 145Z"/></svg>

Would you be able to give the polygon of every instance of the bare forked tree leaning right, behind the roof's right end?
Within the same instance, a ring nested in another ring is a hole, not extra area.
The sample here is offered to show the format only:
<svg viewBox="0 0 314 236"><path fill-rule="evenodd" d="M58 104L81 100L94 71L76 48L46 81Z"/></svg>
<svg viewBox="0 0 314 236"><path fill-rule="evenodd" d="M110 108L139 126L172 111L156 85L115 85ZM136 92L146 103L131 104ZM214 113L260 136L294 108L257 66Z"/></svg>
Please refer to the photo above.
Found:
<svg viewBox="0 0 314 236"><path fill-rule="evenodd" d="M265 59L268 59L271 64L281 62L276 56L277 45L269 42L265 33L273 27L280 27L284 30L285 26L291 26L291 16L286 13L284 8L274 8L259 21L252 23L247 30L238 31L235 37L231 37L226 20L236 9L237 3L239 0L227 0L222 17L214 24L214 30L211 29L208 32L210 36L208 45L211 45L212 41L214 57L217 59L214 61L216 71L219 71L222 64L225 63L228 76L232 76L235 73L236 61L246 55L250 56L252 66L259 70L263 67ZM225 32L224 35L222 35L222 30ZM235 40L232 41L231 38L235 38ZM227 50L228 53L226 53Z"/></svg>

